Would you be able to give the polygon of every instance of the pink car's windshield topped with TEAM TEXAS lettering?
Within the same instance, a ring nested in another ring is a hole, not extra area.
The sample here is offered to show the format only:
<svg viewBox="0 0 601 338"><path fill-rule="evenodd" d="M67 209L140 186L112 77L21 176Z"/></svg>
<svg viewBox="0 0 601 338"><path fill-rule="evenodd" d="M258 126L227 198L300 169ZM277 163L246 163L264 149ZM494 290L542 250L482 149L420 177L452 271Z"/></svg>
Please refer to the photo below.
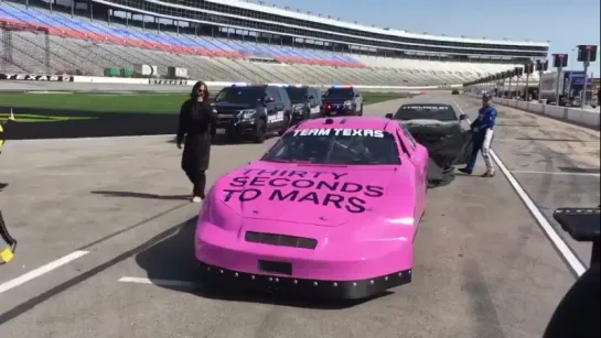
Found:
<svg viewBox="0 0 601 338"><path fill-rule="evenodd" d="M315 164L400 164L395 138L382 130L321 128L286 133L261 159Z"/></svg>

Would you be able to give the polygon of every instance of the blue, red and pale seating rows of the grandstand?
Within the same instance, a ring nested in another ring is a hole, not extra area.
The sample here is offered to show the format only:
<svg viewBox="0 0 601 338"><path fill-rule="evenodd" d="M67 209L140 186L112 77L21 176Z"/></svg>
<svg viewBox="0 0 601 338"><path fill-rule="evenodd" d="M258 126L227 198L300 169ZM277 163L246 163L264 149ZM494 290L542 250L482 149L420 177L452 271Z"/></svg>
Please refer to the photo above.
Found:
<svg viewBox="0 0 601 338"><path fill-rule="evenodd" d="M12 62L2 72L55 74L106 68L169 66L195 79L378 86L438 86L474 80L515 65L432 62L226 41L142 30L58 11L0 2L0 23L12 28ZM47 32L47 34L46 34ZM50 64L45 64L46 35ZM269 62L265 62L268 59Z"/></svg>

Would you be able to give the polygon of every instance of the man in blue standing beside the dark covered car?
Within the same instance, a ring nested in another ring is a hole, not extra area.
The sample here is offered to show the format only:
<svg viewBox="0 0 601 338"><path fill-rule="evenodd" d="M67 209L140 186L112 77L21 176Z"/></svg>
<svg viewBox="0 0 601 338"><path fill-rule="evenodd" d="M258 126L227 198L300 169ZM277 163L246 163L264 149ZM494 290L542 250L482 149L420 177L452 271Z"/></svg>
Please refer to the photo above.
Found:
<svg viewBox="0 0 601 338"><path fill-rule="evenodd" d="M494 164L490 152L491 143L493 142L493 129L496 121L496 109L491 106L491 98L492 96L490 94L484 94L482 96L482 108L480 108L477 118L471 124L472 131L474 132L472 157L465 167L459 170L468 175L472 174L477 159L477 152L482 151L482 157L486 165L486 173L484 173L482 177L494 176Z"/></svg>

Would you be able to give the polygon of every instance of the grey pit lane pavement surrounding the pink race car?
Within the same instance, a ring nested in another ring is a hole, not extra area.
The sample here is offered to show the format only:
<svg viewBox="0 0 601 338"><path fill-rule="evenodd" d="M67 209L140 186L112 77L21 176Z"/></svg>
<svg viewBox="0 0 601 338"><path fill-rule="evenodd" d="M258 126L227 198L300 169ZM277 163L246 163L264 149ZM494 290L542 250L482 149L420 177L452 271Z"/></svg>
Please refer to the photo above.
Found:
<svg viewBox="0 0 601 338"><path fill-rule="evenodd" d="M411 101L453 100L475 117L477 101L460 96ZM400 103L366 113L384 116ZM20 246L0 266L1 337L540 337L575 281L498 171L429 192L412 283L390 294L321 305L205 295L193 283L198 206L185 200L190 186L171 139L7 144L0 206ZM273 142L215 146L210 181ZM598 175L561 171L598 167L599 132L500 107L494 142L544 211L599 203ZM570 244L587 260L588 246Z"/></svg>

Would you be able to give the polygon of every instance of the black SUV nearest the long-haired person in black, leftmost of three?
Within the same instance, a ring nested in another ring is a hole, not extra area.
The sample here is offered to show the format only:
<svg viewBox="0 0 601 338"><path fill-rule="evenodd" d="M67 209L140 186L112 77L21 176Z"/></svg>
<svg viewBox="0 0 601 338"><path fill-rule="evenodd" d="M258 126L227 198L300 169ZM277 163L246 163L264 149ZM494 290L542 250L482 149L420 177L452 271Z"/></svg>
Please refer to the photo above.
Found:
<svg viewBox="0 0 601 338"><path fill-rule="evenodd" d="M216 135L265 142L267 133L283 134L290 126L292 103L286 90L268 85L233 85L215 97Z"/></svg>

